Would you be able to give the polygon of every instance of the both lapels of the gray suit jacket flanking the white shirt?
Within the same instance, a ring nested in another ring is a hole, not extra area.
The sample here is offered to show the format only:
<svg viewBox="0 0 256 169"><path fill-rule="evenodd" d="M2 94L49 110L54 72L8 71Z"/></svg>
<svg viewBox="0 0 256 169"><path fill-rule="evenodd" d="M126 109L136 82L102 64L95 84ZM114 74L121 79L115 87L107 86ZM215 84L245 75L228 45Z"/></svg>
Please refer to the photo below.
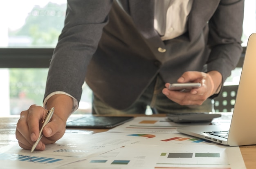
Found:
<svg viewBox="0 0 256 169"><path fill-rule="evenodd" d="M220 0L193 0L189 14L189 38L198 37L216 11ZM130 16L141 34L153 44L164 46L154 29L154 0L129 0ZM145 22L147 21L147 22Z"/></svg>

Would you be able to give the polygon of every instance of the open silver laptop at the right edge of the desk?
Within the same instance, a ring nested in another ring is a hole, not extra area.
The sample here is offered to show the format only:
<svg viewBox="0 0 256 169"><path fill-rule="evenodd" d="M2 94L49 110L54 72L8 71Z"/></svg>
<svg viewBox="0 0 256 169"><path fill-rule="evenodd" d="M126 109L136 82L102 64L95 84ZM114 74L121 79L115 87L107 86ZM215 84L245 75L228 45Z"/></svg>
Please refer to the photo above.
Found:
<svg viewBox="0 0 256 169"><path fill-rule="evenodd" d="M256 33L248 40L230 125L179 127L177 131L223 145L256 145Z"/></svg>

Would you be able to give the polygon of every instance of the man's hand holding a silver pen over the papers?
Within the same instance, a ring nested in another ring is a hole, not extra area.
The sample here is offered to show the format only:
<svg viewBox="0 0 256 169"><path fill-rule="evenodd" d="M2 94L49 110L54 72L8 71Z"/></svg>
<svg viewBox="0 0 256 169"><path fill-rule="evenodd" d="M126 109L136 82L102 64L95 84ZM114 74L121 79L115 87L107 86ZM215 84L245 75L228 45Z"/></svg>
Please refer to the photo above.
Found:
<svg viewBox="0 0 256 169"><path fill-rule="evenodd" d="M73 100L69 96L58 94L49 98L47 109L54 107L54 114L51 121L43 128L43 138L36 146L36 150L43 151L46 144L52 144L64 135L67 118L72 112L72 105ZM47 109L38 105L31 105L29 109L20 113L16 127L16 138L23 149L30 150L38 139Z"/></svg>

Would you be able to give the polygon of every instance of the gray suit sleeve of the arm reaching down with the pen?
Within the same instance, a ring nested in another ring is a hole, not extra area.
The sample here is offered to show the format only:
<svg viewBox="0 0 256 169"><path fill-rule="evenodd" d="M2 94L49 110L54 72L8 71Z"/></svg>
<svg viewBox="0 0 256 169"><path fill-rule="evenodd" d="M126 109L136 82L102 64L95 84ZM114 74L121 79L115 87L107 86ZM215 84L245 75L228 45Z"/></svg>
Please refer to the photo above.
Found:
<svg viewBox="0 0 256 169"><path fill-rule="evenodd" d="M64 91L80 101L86 68L111 6L112 0L67 0L65 26L50 62L44 98Z"/></svg>

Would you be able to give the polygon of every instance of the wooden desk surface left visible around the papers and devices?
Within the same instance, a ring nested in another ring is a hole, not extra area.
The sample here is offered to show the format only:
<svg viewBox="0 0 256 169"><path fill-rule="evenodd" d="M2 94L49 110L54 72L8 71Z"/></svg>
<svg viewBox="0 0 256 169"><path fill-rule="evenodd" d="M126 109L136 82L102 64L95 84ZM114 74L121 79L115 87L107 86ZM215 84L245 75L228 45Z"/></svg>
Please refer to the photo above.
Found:
<svg viewBox="0 0 256 169"><path fill-rule="evenodd" d="M143 116L143 115L139 115ZM153 116L165 116L165 115L153 115ZM7 146L11 143L18 141L15 137L16 123L18 122L18 116L3 117L0 118L0 147ZM67 129L67 131L72 129ZM107 131L106 129L87 129L88 133L98 133ZM255 169L256 167L256 145L240 146L243 159L247 169Z"/></svg>

